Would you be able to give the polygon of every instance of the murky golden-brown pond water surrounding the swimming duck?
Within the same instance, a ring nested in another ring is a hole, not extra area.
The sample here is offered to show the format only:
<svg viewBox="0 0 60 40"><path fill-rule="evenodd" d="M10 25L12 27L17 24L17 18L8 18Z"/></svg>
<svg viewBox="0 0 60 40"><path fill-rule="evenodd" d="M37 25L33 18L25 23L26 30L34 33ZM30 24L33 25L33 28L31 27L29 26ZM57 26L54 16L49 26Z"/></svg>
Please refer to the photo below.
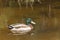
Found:
<svg viewBox="0 0 60 40"><path fill-rule="evenodd" d="M60 9L54 8L49 15L48 6L41 5L31 8L6 7L0 8L0 40L60 40ZM49 17L51 16L51 17ZM23 23L24 19L31 17L35 22L34 35L12 35L7 25Z"/></svg>

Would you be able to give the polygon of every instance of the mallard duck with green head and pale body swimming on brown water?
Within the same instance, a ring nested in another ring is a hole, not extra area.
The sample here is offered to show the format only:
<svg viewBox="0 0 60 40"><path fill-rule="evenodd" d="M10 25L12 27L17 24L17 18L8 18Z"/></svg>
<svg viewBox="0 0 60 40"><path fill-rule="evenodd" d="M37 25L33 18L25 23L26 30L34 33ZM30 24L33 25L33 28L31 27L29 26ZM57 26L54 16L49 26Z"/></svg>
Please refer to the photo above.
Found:
<svg viewBox="0 0 60 40"><path fill-rule="evenodd" d="M13 34L27 34L30 31L32 31L33 26L32 24L36 24L35 22L33 22L30 18L27 18L26 20L26 24L21 24L21 23L16 23L16 24L11 24L8 26L8 28L10 29L10 31Z"/></svg>

